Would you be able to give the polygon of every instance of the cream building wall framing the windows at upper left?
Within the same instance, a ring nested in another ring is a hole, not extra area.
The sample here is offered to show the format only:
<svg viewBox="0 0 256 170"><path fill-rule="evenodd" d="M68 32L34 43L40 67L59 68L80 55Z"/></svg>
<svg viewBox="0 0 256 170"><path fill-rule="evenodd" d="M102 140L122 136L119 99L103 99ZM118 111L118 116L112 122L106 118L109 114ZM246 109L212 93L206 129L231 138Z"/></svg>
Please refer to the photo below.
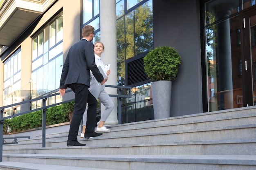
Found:
<svg viewBox="0 0 256 170"><path fill-rule="evenodd" d="M0 62L0 72L4 71L4 60L16 51L19 47L21 48L22 63L21 63L21 91L24 91L25 97L23 100L28 100L27 97L31 90L31 53L32 53L32 39L31 36L40 31L41 28L45 27L45 24L51 20L51 18L63 10L63 62L67 56L67 52L70 46L75 44L81 39L81 0L73 0L72 3L66 3L65 0L58 0L54 5L46 11L40 18L34 28L30 28L29 34L21 35L19 40L13 43L12 46L5 52ZM72 11L72 12L71 12ZM7 54L7 55L6 55ZM0 75L0 89L3 89L3 75ZM3 91L0 90L0 106L2 106ZM26 104L25 104L26 105ZM22 110L29 110L30 106L22 105ZM24 111L23 110L23 111Z"/></svg>

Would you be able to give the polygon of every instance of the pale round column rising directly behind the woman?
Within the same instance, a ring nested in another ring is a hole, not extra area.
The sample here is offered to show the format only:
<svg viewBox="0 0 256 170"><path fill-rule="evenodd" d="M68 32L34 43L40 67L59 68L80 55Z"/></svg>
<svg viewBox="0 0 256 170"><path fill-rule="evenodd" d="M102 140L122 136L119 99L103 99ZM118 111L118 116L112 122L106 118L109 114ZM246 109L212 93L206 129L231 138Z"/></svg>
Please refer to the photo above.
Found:
<svg viewBox="0 0 256 170"><path fill-rule="evenodd" d="M102 53L104 64L110 65L110 75L108 85L117 85L117 26L116 26L116 0L101 0L100 2L100 25L101 25L101 42L105 49ZM108 94L117 94L116 88L105 88ZM117 97L111 97L115 108L108 117L104 125L118 124L117 120ZM101 104L101 113L105 107Z"/></svg>

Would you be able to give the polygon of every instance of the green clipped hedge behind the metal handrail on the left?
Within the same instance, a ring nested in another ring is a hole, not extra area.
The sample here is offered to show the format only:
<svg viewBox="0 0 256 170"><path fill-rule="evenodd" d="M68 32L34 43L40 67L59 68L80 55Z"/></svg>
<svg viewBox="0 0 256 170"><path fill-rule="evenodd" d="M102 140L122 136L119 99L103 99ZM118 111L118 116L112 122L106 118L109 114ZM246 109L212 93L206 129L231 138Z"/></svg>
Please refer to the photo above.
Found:
<svg viewBox="0 0 256 170"><path fill-rule="evenodd" d="M69 122L74 111L74 101L46 110L46 126ZM42 110L4 120L3 132L19 132L42 127Z"/></svg>

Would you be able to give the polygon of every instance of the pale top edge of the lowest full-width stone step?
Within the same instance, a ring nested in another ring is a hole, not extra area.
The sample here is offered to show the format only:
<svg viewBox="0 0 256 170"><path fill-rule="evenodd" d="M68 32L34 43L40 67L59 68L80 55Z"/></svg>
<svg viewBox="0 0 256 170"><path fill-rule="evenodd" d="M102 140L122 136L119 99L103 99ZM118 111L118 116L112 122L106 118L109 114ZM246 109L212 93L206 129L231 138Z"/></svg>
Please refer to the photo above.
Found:
<svg viewBox="0 0 256 170"><path fill-rule="evenodd" d="M191 163L256 166L256 155L44 155L3 154L4 157L22 159L65 159L74 161L125 161L144 163ZM0 163L1 165L1 163Z"/></svg>

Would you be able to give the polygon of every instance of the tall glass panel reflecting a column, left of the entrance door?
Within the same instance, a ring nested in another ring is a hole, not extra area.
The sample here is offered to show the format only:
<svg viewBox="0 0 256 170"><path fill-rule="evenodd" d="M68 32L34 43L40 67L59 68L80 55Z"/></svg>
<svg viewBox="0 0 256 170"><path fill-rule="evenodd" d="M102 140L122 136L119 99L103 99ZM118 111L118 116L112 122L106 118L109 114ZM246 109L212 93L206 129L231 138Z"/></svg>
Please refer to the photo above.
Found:
<svg viewBox="0 0 256 170"><path fill-rule="evenodd" d="M208 110L243 107L239 0L205 4Z"/></svg>

